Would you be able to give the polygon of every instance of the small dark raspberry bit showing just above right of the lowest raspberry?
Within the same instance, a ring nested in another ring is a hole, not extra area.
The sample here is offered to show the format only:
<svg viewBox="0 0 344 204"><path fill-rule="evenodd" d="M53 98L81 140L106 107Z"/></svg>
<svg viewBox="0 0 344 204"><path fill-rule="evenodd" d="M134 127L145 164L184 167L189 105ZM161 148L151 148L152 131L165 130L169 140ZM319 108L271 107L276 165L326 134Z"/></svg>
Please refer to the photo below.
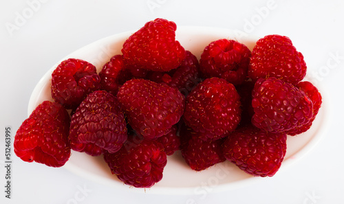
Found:
<svg viewBox="0 0 344 204"><path fill-rule="evenodd" d="M178 126L173 125L171 131L166 135L158 137L159 141L164 146L166 155L173 155L173 153L180 148L180 137L177 135Z"/></svg>

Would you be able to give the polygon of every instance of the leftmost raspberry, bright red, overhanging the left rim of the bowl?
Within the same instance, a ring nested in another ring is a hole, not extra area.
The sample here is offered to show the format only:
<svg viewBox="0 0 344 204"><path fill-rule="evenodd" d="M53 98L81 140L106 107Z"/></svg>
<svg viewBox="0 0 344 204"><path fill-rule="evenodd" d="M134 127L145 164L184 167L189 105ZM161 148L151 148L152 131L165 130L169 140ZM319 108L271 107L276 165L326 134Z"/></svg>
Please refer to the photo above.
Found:
<svg viewBox="0 0 344 204"><path fill-rule="evenodd" d="M21 124L14 153L23 161L61 167L69 159L69 115L57 102L44 101Z"/></svg>

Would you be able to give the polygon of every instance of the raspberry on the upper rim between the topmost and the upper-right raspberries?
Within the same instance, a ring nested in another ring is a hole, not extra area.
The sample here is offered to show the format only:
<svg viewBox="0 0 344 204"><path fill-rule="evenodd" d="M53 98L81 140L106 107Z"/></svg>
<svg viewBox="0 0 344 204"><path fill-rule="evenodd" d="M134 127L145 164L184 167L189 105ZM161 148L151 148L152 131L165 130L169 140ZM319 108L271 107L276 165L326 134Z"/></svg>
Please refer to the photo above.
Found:
<svg viewBox="0 0 344 204"><path fill-rule="evenodd" d="M219 39L204 48L200 70L204 78L224 78L232 84L241 84L247 77L250 49L234 40Z"/></svg>

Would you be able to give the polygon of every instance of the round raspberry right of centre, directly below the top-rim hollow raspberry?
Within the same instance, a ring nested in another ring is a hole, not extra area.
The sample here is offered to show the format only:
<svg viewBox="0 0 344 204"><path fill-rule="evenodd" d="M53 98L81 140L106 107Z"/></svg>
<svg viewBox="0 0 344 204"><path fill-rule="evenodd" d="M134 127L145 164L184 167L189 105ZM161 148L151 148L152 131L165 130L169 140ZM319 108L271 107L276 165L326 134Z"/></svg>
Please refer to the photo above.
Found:
<svg viewBox="0 0 344 204"><path fill-rule="evenodd" d="M219 139L240 122L240 97L233 84L207 78L186 97L184 122L202 139Z"/></svg>

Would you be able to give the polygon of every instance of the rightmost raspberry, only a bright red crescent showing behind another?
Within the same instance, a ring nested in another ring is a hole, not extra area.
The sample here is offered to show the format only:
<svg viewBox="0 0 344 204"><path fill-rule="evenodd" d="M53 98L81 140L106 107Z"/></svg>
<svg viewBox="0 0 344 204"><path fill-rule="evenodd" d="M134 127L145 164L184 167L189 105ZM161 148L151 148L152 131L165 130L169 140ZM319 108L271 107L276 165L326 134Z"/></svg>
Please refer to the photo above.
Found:
<svg viewBox="0 0 344 204"><path fill-rule="evenodd" d="M308 129L312 126L312 123L316 117L316 115L319 112L319 109L321 107L322 103L322 97L319 90L314 87L314 85L311 82L299 82L296 87L298 87L301 91L305 92L305 94L312 100L313 104L313 117L310 119L310 121L306 124L303 124L303 126L299 126L297 128L294 128L290 131L287 131L286 133L288 135L299 135L301 133L304 133L305 131L308 131Z"/></svg>

